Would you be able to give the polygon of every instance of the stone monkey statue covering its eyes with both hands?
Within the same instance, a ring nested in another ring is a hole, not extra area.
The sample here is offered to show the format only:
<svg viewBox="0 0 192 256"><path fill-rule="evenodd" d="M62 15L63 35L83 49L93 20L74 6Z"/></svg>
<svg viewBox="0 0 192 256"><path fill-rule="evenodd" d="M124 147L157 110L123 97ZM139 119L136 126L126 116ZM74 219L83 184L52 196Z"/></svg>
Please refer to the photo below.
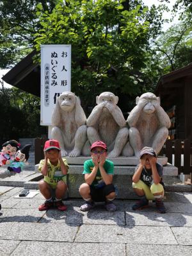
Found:
<svg viewBox="0 0 192 256"><path fill-rule="evenodd" d="M136 98L136 107L131 110L127 123L130 126L129 141L137 157L144 146L150 146L156 154L159 153L171 125L170 118L160 106L159 97L151 92Z"/></svg>

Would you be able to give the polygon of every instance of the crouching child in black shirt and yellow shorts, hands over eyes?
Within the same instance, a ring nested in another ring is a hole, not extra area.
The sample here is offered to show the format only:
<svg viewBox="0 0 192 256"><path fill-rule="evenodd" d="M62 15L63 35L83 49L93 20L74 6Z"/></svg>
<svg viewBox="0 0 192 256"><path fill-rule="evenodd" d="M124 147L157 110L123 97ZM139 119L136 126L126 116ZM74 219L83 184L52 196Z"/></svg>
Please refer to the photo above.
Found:
<svg viewBox="0 0 192 256"><path fill-rule="evenodd" d="M165 213L163 204L164 183L162 181L163 166L157 163L153 148L144 147L140 151L140 164L132 176L132 187L140 196L140 201L132 206L132 210L148 207L148 200L156 201L157 210Z"/></svg>

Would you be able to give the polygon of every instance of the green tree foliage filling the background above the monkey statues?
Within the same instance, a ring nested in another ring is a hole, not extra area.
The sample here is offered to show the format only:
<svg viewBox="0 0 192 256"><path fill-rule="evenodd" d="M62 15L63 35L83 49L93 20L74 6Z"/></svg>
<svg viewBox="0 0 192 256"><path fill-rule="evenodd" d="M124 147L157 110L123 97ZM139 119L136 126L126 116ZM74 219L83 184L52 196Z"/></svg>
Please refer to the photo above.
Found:
<svg viewBox="0 0 192 256"><path fill-rule="evenodd" d="M176 1L173 12L180 10L182 24L162 33L166 1L148 9L141 0L2 0L0 67L41 44L71 44L72 91L84 110L109 90L129 111L132 99L153 91L162 74L191 62L191 1Z"/></svg>

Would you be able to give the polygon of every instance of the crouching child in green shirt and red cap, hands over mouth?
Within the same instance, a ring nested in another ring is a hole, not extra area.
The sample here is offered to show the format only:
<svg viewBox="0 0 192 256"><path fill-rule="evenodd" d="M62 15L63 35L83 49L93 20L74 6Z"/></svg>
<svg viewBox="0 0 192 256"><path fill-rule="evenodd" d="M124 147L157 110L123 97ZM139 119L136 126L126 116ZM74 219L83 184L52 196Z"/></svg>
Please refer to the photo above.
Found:
<svg viewBox="0 0 192 256"><path fill-rule="evenodd" d="M95 201L105 201L107 210L116 210L113 204L115 187L113 185L113 162L106 159L107 146L102 141L96 141L91 146L92 159L84 162L84 180L79 187L79 193L84 199L80 210L87 211L95 206Z"/></svg>

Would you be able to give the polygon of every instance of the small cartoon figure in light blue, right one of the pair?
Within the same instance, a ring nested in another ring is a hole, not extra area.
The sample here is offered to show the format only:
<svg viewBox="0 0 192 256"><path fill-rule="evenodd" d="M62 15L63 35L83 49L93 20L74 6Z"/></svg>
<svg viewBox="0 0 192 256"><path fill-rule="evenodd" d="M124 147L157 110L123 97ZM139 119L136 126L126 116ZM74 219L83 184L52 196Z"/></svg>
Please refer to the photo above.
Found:
<svg viewBox="0 0 192 256"><path fill-rule="evenodd" d="M14 160L8 161L8 171L14 173L20 173L24 167L24 163L27 162L29 158L29 149L31 144L27 144L22 149L18 150L15 155Z"/></svg>

